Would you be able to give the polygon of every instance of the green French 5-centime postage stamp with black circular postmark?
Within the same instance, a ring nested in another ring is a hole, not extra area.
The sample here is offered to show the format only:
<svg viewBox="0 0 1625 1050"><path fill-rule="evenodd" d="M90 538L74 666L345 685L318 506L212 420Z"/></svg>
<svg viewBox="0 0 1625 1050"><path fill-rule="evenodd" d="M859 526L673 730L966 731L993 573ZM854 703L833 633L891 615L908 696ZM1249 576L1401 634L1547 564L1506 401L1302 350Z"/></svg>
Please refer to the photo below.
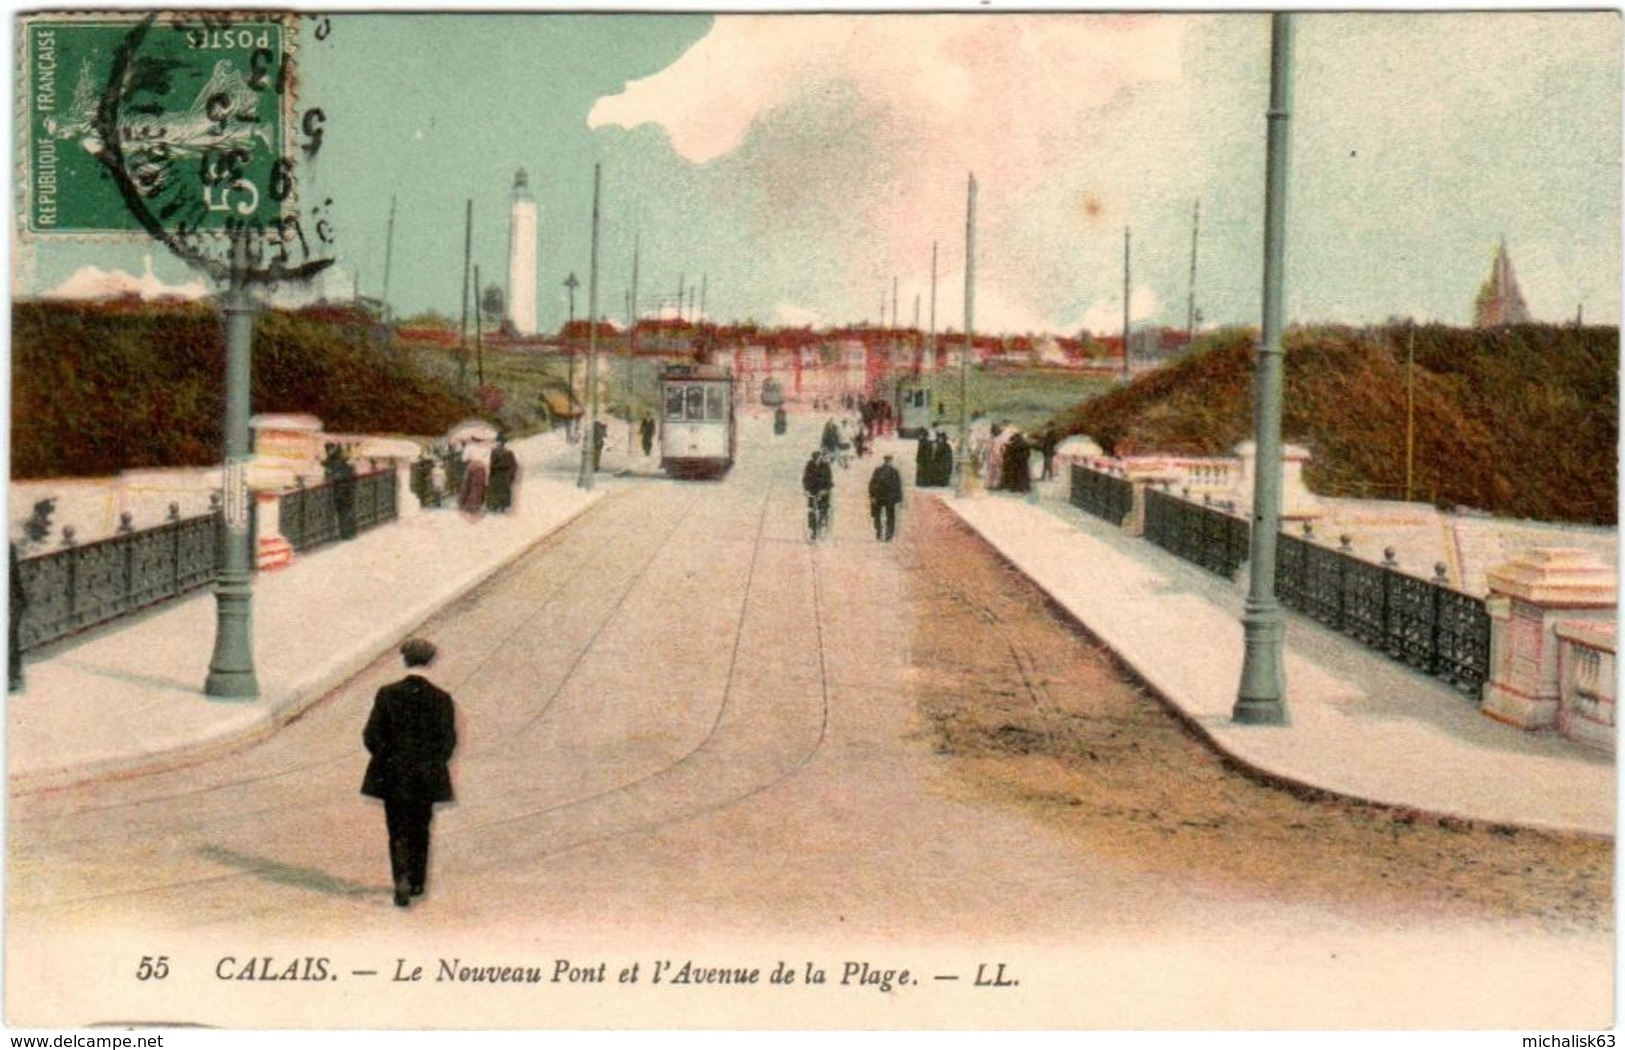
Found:
<svg viewBox="0 0 1625 1050"><path fill-rule="evenodd" d="M39 15L18 34L18 190L37 234L275 223L292 189L284 18Z"/></svg>

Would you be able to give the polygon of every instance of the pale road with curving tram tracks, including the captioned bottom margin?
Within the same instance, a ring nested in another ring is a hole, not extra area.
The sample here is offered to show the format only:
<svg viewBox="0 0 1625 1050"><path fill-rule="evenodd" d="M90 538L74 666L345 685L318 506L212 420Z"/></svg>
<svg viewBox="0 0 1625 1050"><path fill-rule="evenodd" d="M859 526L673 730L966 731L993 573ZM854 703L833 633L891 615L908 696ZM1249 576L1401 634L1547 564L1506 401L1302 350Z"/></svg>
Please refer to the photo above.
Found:
<svg viewBox="0 0 1625 1050"><path fill-rule="evenodd" d="M410 910L358 795L393 657L244 753L15 800L13 1022L1607 1024L1607 935L1284 902L967 792L910 697L910 509L897 546L874 543L868 465L837 471L835 536L809 545L819 421L798 423L774 439L751 419L722 483L606 479L611 499L424 627L460 705L460 801ZM169 975L136 980L143 956ZM656 959L760 982L786 961L800 983L655 985ZM442 961L546 980L474 988L436 980ZM1469 962L1441 1000L1438 974ZM288 965L322 980L226 980ZM426 983L392 980L414 965Z"/></svg>

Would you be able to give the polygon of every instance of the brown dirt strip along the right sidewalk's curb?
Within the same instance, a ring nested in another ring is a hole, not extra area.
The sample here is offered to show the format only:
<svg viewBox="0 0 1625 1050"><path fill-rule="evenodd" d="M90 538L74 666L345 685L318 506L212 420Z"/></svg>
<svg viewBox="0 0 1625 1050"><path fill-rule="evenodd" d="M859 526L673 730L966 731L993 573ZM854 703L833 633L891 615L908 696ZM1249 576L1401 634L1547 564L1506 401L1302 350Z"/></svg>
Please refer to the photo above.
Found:
<svg viewBox="0 0 1625 1050"><path fill-rule="evenodd" d="M921 499L913 510L912 681L967 790L1149 873L1396 918L1612 928L1612 844L1256 783L1128 681L944 507Z"/></svg>

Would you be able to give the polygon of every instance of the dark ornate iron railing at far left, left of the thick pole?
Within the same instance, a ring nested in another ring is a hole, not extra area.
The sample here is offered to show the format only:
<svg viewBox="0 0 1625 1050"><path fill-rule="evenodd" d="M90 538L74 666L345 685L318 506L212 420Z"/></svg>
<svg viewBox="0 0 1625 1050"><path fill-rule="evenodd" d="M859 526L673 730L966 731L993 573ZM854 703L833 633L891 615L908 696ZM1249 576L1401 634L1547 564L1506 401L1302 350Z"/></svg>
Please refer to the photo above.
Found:
<svg viewBox="0 0 1625 1050"><path fill-rule="evenodd" d="M214 582L219 514L24 558L23 652Z"/></svg>

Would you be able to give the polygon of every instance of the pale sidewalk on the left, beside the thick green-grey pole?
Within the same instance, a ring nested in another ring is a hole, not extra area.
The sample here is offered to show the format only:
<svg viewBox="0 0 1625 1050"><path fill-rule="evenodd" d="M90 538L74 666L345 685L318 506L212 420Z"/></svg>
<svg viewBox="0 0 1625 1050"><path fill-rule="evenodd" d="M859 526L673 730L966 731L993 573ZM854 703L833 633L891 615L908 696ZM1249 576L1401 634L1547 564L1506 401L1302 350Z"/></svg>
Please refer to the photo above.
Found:
<svg viewBox="0 0 1625 1050"><path fill-rule="evenodd" d="M208 588L26 662L28 688L6 702L11 790L162 769L276 731L601 496L562 470L574 449L559 436L514 444L510 514L470 522L403 491L398 522L255 577L255 701L203 696Z"/></svg>

